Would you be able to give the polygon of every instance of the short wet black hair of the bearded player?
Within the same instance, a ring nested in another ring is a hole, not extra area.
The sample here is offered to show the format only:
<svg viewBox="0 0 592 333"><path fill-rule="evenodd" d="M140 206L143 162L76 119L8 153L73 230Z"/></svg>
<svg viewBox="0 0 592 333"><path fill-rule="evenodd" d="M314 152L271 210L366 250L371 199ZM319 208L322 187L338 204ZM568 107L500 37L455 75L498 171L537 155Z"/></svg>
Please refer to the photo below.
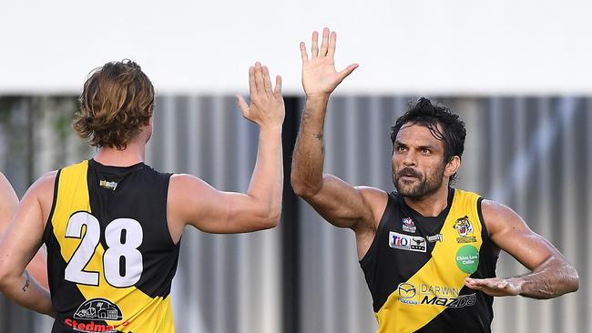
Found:
<svg viewBox="0 0 592 333"><path fill-rule="evenodd" d="M416 103L410 105L409 109L397 118L394 126L391 127L391 141L393 142L399 134L401 127L405 124L417 124L427 127L432 135L444 143L444 163L448 163L454 156L463 156L464 137L466 129L464 121L454 114L446 106L432 105L429 99L421 97ZM442 128L440 130L438 125ZM456 174L450 177L450 184L456 180Z"/></svg>

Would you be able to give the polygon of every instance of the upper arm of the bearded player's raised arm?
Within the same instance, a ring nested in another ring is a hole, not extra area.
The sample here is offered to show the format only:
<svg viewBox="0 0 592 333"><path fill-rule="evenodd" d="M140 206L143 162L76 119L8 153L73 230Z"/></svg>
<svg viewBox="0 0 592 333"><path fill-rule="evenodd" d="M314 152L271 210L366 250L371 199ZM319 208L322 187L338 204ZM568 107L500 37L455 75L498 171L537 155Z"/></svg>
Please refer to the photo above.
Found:
<svg viewBox="0 0 592 333"><path fill-rule="evenodd" d="M352 187L332 175L323 175L316 193L301 197L333 226L354 231L375 228L387 202L387 194L380 189Z"/></svg>

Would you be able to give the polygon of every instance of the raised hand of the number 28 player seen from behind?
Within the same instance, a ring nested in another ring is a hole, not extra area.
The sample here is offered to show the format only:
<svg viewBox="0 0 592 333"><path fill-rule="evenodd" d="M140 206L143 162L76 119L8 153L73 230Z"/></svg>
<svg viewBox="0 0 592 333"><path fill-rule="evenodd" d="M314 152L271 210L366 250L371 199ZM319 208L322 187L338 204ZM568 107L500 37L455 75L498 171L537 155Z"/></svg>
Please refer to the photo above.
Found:
<svg viewBox="0 0 592 333"><path fill-rule="evenodd" d="M275 89L271 90L270 71L259 62L249 67L250 106L237 95L242 116L259 126L281 126L285 116L281 96L281 76L275 77Z"/></svg>

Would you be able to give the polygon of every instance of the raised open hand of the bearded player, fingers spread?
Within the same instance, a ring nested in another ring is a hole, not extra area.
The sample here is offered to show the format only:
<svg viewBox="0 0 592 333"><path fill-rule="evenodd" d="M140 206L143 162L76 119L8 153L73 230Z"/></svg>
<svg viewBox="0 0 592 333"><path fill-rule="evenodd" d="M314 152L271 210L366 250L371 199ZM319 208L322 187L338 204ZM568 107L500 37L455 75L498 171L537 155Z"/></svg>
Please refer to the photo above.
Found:
<svg viewBox="0 0 592 333"><path fill-rule="evenodd" d="M302 56L302 86L307 97L328 97L335 87L342 83L346 76L358 67L352 64L341 72L335 70L335 44L337 34L329 28L322 30L321 50L319 50L319 33L312 33L311 57L306 51L306 45L301 42Z"/></svg>

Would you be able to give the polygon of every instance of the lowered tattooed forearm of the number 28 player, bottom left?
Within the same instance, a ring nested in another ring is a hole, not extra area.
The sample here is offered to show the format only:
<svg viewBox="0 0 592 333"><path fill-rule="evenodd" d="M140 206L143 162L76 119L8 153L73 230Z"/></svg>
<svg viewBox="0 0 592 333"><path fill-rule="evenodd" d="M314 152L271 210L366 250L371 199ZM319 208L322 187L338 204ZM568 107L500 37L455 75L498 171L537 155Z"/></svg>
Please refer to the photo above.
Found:
<svg viewBox="0 0 592 333"><path fill-rule="evenodd" d="M2 278L0 286L5 296L18 305L53 317L49 291L39 286L26 271L20 276Z"/></svg>

